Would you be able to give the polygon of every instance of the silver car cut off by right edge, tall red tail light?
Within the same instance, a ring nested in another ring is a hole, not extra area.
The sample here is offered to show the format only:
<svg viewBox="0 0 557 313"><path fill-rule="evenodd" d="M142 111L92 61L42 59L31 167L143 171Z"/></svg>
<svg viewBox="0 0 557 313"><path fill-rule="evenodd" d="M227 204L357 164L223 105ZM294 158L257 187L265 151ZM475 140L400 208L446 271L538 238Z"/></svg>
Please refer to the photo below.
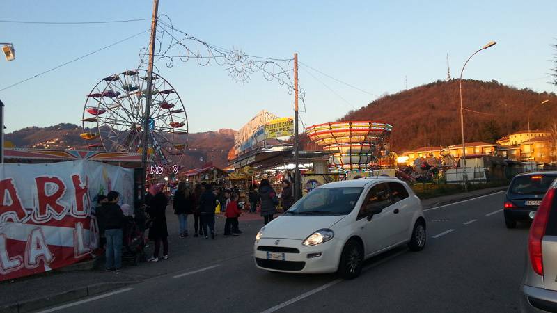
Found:
<svg viewBox="0 0 557 313"><path fill-rule="evenodd" d="M557 182L530 227L521 291L522 312L557 312Z"/></svg>

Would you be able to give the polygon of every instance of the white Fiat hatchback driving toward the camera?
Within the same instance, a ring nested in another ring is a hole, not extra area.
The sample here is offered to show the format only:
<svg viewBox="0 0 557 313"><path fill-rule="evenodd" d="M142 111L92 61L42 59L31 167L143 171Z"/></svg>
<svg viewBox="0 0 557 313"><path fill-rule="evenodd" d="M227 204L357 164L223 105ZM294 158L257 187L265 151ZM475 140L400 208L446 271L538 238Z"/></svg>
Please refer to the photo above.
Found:
<svg viewBox="0 0 557 313"><path fill-rule="evenodd" d="M253 247L256 266L287 273L356 278L363 261L408 244L425 246L420 199L389 177L325 184L265 225Z"/></svg>

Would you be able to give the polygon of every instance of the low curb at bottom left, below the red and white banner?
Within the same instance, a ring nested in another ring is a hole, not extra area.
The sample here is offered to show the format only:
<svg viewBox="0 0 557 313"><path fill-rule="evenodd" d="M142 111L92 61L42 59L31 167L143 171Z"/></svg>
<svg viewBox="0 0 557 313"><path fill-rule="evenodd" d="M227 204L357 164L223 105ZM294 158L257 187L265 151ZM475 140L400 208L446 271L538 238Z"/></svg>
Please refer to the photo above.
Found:
<svg viewBox="0 0 557 313"><path fill-rule="evenodd" d="M95 296L97 294L101 294L104 291L118 289L136 282L137 281L100 282L97 284L91 284L87 287L81 287L69 291L64 291L61 294L44 296L41 298L34 298L34 299L25 300L18 303L10 303L7 305L0 305L0 312L9 312L9 313L31 312L34 310L40 310L46 307L51 307L52 305L66 303L71 300L77 300L79 298L85 298L87 296Z"/></svg>

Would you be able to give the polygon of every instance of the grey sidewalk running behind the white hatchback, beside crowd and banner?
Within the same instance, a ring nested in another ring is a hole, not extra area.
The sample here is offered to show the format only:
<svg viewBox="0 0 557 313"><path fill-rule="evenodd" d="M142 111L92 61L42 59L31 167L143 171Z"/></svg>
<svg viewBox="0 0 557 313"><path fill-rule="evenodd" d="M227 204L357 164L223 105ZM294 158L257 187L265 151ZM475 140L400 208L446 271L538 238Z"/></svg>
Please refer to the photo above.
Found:
<svg viewBox="0 0 557 313"><path fill-rule="evenodd" d="M505 190L505 187L487 188L446 195L423 200L424 209L458 202L481 195ZM194 238L194 218L188 218L190 236L185 239L178 237L178 218L167 210L168 237L171 256L167 261L156 263L142 262L139 266L125 265L120 273L104 272L100 268L90 271L52 271L42 275L20 278L13 281L0 282L0 312L31 312L42 307L65 303L71 300L102 294L111 289L118 289L127 284L134 284L155 278L160 275L183 273L191 269L207 266L214 262L226 262L242 255L252 253L253 238L262 227L260 214L246 212L240 216L240 229L244 232L240 237L223 238L223 227L226 218L219 215L216 219L217 239L205 240ZM152 244L146 250L152 253ZM75 266L73 269L86 269L87 266ZM71 270L72 268L70 268ZM168 279L171 279L168 278Z"/></svg>

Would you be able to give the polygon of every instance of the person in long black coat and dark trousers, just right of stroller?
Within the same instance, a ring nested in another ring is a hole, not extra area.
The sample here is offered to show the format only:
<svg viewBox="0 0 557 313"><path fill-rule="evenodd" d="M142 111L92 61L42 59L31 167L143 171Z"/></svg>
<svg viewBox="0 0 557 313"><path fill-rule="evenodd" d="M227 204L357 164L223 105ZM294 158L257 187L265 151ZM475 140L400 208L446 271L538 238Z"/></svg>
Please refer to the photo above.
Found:
<svg viewBox="0 0 557 313"><path fill-rule="evenodd" d="M162 186L155 184L149 189L149 216L152 225L149 228L149 240L155 241L155 251L148 262L159 261L161 243L163 245L162 259L168 259L168 228L166 227L166 206L168 199L162 193Z"/></svg>

